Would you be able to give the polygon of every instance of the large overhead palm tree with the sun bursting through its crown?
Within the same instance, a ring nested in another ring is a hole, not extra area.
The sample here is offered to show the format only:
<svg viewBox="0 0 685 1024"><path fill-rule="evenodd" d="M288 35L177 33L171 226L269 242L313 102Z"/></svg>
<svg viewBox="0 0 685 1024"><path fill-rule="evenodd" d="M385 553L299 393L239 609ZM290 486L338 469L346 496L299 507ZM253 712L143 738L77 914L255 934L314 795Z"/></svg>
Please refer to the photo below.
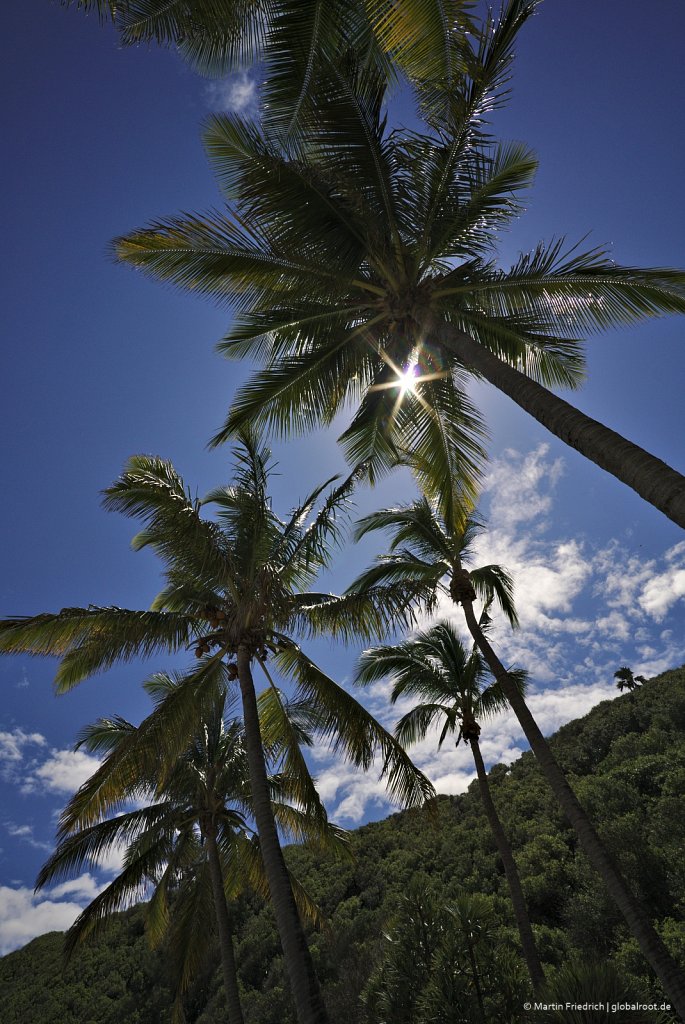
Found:
<svg viewBox="0 0 685 1024"><path fill-rule="evenodd" d="M410 451L429 467L423 489L439 496L461 473L473 500L483 425L465 387L484 378L685 526L685 477L548 390L581 384L583 336L685 312L685 273L562 241L508 270L496 262L537 161L496 144L484 120L528 6L510 3L494 31L470 37L469 72L448 93L424 90L423 133L388 130L385 79L344 59L322 69L308 130L288 142L268 125L211 118L226 211L155 222L115 251L234 304L220 350L263 369L215 442L257 421L309 430L353 403L341 436L352 464L377 472Z"/></svg>

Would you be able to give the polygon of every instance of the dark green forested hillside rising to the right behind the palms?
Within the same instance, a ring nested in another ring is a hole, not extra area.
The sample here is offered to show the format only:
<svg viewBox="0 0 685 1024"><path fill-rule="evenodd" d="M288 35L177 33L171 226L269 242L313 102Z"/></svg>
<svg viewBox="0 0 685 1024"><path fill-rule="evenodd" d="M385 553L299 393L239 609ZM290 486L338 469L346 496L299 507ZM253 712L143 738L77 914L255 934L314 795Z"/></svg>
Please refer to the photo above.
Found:
<svg viewBox="0 0 685 1024"><path fill-rule="evenodd" d="M685 959L685 669L604 701L560 729L553 745L668 945ZM595 965L613 964L618 995L660 999L532 756L511 768L496 766L490 779L548 977L590 954ZM512 952L516 933L506 883L475 786L441 798L433 815L406 812L366 825L353 834L352 846L351 863L302 848L289 851L291 866L331 922L313 937L313 948L333 1024L475 1019L469 1017L468 971L461 966L464 914L477 924L488 1019L523 1020L525 975ZM269 911L246 899L237 919L247 1021L290 1024ZM418 946L417 935L423 936ZM431 935L439 941L428 955ZM57 933L45 935L0 959L2 1024L169 1021L168 958L147 948L142 908L118 915L66 971L60 942ZM216 967L208 964L197 980L188 1024L226 1019Z"/></svg>

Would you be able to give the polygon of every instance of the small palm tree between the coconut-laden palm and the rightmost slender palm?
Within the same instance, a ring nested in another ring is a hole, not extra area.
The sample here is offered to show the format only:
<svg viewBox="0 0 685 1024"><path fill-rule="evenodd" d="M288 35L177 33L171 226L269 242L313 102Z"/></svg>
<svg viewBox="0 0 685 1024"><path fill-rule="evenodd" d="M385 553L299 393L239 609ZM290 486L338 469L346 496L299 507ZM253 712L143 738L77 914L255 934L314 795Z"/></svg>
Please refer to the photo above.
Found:
<svg viewBox="0 0 685 1024"><path fill-rule="evenodd" d="M482 624L482 616L481 616ZM442 724L438 749L447 735L457 733L471 748L480 797L504 865L518 926L521 948L533 988L545 981L530 927L516 861L498 815L480 752L480 723L508 707L497 682L488 681L487 668L477 651L470 654L454 626L439 622L394 646L366 650L359 658L357 682L367 684L392 678L393 703L400 697L421 698L397 723L395 736L404 746L424 739L429 730ZM512 677L523 692L522 675Z"/></svg>

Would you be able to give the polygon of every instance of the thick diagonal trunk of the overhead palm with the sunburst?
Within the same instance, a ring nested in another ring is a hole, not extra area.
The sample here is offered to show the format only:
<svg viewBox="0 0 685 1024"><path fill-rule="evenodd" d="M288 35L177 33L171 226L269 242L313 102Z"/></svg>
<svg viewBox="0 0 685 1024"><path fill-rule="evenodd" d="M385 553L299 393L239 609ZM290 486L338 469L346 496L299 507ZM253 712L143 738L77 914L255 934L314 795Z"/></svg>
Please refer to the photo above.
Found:
<svg viewBox="0 0 685 1024"><path fill-rule="evenodd" d="M669 519L685 527L685 476L508 366L464 332L440 324L434 333L460 362L509 395L565 444L637 490Z"/></svg>

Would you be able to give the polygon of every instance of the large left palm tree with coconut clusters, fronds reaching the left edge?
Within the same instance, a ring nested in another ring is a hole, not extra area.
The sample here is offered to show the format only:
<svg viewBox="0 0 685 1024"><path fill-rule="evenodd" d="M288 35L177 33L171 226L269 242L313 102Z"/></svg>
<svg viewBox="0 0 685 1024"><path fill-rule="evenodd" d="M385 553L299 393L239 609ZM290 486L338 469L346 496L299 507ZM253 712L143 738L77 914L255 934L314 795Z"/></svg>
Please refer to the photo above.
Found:
<svg viewBox="0 0 685 1024"><path fill-rule="evenodd" d="M312 510L327 484L282 521L267 492L268 450L245 433L234 456L233 483L213 490L204 502L191 499L169 462L148 456L129 460L119 480L105 490L106 508L142 520L144 528L134 547L152 547L165 564L167 585L149 611L91 606L5 620L0 623L0 651L60 656L55 682L63 692L117 662L158 651L195 650L197 666L160 713L146 720L142 732L151 745L165 750L169 762L195 734L204 701L218 687L238 681L252 806L293 998L300 1024L318 1024L326 1021L326 1010L271 811L253 669L261 670L269 684L269 721L283 726L266 737L267 743L280 743L285 770L293 779L305 778L290 772L302 754L298 737L288 730L267 663L294 683L294 699L308 705L317 723L315 735L365 769L378 752L391 798L405 806L420 805L433 796L425 776L394 737L314 665L295 639L317 633L343 639L378 635L395 615L405 615L408 601L404 595L393 606L373 595L334 598L307 590L331 561L340 535L339 516L361 469L329 488L316 515ZM201 516L208 504L216 519ZM116 785L125 787L134 777L135 758L128 757L124 743ZM102 801L116 794L112 780L98 782ZM320 808L312 788L305 780L293 794L304 812Z"/></svg>

